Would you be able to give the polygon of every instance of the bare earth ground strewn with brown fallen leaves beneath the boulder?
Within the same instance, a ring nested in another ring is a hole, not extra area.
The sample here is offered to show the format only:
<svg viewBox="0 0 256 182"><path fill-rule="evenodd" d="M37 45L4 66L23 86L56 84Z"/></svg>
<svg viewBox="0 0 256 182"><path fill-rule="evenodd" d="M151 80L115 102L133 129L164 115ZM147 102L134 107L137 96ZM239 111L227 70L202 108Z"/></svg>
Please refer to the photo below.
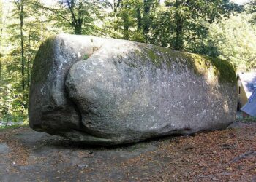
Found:
<svg viewBox="0 0 256 182"><path fill-rule="evenodd" d="M0 181L256 181L256 122L108 148L0 130Z"/></svg>

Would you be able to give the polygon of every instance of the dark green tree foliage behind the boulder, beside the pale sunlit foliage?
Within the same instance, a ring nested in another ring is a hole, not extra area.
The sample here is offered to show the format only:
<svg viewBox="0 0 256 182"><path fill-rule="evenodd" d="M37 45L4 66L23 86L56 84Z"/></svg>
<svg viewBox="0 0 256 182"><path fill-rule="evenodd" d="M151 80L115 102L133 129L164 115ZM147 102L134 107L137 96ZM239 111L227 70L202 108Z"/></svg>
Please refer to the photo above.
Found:
<svg viewBox="0 0 256 182"><path fill-rule="evenodd" d="M240 10L238 5L222 0L167 0L154 18L151 43L157 40L160 46L197 52L200 40L207 37L209 23Z"/></svg>

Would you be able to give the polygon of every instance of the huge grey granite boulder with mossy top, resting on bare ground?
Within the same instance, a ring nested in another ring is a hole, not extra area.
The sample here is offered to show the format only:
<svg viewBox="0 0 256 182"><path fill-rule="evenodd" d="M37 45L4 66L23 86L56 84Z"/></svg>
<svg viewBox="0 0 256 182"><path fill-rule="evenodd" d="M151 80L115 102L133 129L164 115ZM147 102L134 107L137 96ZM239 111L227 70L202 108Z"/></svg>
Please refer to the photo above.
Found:
<svg viewBox="0 0 256 182"><path fill-rule="evenodd" d="M225 60L94 36L53 36L34 60L29 124L114 145L225 129L236 74Z"/></svg>

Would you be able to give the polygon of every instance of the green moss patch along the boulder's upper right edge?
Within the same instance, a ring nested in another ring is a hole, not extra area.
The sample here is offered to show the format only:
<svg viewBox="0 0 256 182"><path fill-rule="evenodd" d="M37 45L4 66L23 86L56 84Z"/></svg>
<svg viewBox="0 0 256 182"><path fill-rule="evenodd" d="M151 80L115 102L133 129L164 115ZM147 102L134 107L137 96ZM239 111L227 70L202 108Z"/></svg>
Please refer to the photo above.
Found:
<svg viewBox="0 0 256 182"><path fill-rule="evenodd" d="M140 55L140 61L151 61L156 67L163 64L170 68L173 63L181 64L181 67L189 68L197 75L205 75L210 68L214 69L214 76L217 76L220 83L231 83L236 85L236 72L233 65L227 60L211 58L205 55L197 55L188 52L179 52L165 47L157 47L143 44L138 50L134 50L135 55ZM135 64L129 63L135 68Z"/></svg>

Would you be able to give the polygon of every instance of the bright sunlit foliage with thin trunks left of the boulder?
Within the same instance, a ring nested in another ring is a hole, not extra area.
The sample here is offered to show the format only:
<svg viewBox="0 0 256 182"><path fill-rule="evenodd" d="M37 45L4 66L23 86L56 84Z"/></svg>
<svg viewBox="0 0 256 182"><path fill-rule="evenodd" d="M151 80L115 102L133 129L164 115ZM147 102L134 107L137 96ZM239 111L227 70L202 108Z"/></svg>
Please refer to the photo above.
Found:
<svg viewBox="0 0 256 182"><path fill-rule="evenodd" d="M39 44L51 33L50 24L42 22L45 14L29 0L0 4L0 120L27 122L31 67Z"/></svg>

